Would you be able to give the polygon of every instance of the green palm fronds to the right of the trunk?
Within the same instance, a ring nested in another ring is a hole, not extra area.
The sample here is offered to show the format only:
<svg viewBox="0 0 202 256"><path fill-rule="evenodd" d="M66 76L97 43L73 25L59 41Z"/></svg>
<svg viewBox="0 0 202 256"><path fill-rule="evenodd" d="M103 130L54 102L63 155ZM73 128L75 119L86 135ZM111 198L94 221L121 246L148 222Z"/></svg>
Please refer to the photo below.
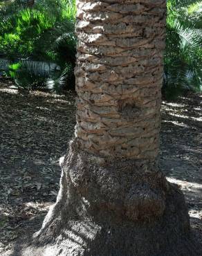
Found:
<svg viewBox="0 0 202 256"><path fill-rule="evenodd" d="M163 85L163 94L167 98L174 98L186 89L202 91L202 33L199 29L202 11L199 6L196 1L167 1Z"/></svg>

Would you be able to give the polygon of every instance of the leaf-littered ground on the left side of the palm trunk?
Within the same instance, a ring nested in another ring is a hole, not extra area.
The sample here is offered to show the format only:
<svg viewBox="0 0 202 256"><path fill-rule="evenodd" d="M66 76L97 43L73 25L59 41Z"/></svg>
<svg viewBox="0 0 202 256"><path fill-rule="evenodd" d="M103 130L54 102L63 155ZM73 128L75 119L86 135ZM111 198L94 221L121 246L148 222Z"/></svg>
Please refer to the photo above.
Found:
<svg viewBox="0 0 202 256"><path fill-rule="evenodd" d="M8 246L55 201L59 157L75 126L75 93L0 88L0 105L0 228L1 242ZM42 221L37 223L39 228Z"/></svg>

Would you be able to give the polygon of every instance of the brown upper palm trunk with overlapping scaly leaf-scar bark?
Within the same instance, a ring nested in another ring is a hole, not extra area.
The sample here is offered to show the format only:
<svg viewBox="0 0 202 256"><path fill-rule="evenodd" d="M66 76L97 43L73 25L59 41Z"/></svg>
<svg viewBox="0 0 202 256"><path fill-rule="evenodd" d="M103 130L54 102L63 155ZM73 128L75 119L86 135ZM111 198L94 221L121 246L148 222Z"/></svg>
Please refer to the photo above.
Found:
<svg viewBox="0 0 202 256"><path fill-rule="evenodd" d="M156 158L166 1L77 1L77 7L82 148L105 158Z"/></svg>

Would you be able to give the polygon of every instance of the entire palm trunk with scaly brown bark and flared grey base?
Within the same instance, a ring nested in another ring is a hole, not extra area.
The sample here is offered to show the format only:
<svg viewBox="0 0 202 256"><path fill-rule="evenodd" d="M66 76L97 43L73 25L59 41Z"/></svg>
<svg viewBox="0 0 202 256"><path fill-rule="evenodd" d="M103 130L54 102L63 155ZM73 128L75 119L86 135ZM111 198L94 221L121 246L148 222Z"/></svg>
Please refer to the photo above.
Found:
<svg viewBox="0 0 202 256"><path fill-rule="evenodd" d="M75 138L33 255L197 255L157 160L166 1L77 8Z"/></svg>

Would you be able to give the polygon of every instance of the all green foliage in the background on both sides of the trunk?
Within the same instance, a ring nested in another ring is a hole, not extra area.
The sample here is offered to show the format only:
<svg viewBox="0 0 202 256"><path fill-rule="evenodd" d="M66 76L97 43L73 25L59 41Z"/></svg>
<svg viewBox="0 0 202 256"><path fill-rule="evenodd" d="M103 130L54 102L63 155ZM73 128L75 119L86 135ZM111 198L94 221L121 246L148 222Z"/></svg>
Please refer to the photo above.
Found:
<svg viewBox="0 0 202 256"><path fill-rule="evenodd" d="M73 86L75 13L75 0L0 3L0 55L10 61L7 75L18 86L46 85L55 91ZM165 97L202 91L201 29L202 1L167 0Z"/></svg>

